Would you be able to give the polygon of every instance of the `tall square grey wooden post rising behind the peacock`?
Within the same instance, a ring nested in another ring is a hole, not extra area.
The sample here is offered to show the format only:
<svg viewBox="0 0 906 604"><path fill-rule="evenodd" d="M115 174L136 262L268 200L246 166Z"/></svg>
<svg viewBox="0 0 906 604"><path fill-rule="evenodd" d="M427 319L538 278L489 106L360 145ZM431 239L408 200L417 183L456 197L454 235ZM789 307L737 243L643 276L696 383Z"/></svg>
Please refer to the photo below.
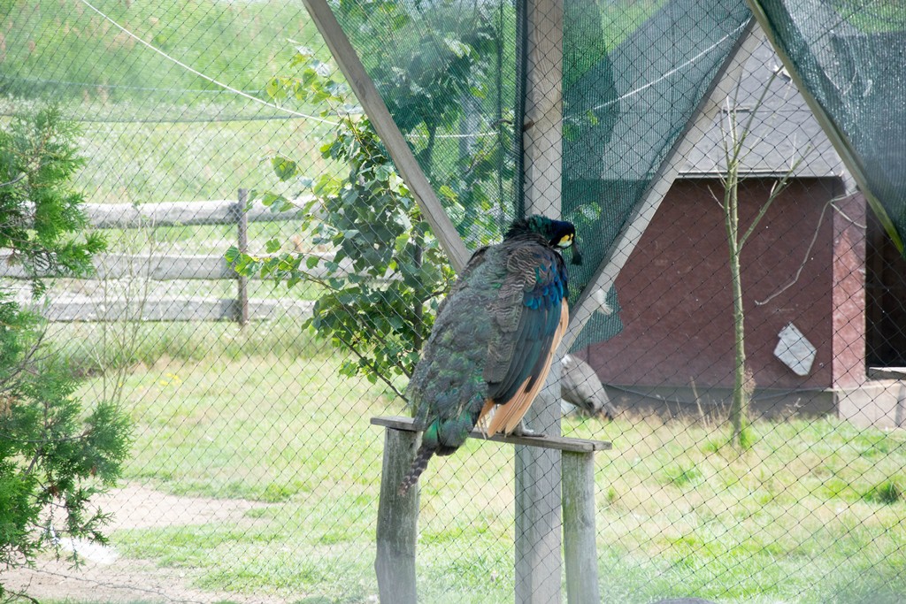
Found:
<svg viewBox="0 0 906 604"><path fill-rule="evenodd" d="M526 0L525 214L560 216L563 179L563 0ZM560 360L529 409L529 427L560 436ZM560 451L516 446L516 604L560 602Z"/></svg>

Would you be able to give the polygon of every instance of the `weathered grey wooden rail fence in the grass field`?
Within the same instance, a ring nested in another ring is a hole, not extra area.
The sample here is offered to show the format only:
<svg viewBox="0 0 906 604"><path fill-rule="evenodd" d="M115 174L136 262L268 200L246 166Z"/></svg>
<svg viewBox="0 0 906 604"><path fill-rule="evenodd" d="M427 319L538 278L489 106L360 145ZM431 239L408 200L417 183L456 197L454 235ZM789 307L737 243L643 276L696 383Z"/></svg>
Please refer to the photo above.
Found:
<svg viewBox="0 0 906 604"><path fill-rule="evenodd" d="M94 228L132 229L178 225L236 225L236 244L245 251L249 222L279 222L298 219L301 211L274 212L255 203L246 211L246 189L238 199L167 202L160 204L85 204ZM226 249L224 250L226 253ZM313 254L318 255L318 254ZM329 257L320 255L319 257ZM88 280L144 279L229 280L236 282L236 298L205 296L149 297L142 301L104 300L85 295L65 295L38 307L51 321L239 321L271 319L282 314L307 316L310 301L248 298L248 283L233 270L224 254L97 254L94 274ZM309 271L323 275L316 266ZM0 254L0 277L27 279L22 266L11 264L9 254Z"/></svg>

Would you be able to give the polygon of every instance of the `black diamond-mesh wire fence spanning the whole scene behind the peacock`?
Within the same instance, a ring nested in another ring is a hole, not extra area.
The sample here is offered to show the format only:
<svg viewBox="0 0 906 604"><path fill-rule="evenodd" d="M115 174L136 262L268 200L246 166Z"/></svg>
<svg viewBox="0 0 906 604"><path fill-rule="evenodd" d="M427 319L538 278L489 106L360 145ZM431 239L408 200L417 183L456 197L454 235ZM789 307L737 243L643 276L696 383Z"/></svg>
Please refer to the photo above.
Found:
<svg viewBox="0 0 906 604"><path fill-rule="evenodd" d="M906 599L898 181L879 189L892 220L747 5L328 4L469 252L529 214L576 225L583 327L564 400L534 421L612 443L594 457L601 600ZM865 4L813 8L845 48L902 39L901 8ZM78 396L135 426L97 500L111 545L63 542L81 568L0 580L41 600L377 601L369 419L410 415L400 393L455 279L381 124L301 5L0 14L2 120L54 101L82 125L76 185L108 240L93 279L53 283L48 339ZM861 98L893 115L895 84ZM882 161L876 139L858 144ZM419 600L513 599L520 464L479 439L432 460Z"/></svg>

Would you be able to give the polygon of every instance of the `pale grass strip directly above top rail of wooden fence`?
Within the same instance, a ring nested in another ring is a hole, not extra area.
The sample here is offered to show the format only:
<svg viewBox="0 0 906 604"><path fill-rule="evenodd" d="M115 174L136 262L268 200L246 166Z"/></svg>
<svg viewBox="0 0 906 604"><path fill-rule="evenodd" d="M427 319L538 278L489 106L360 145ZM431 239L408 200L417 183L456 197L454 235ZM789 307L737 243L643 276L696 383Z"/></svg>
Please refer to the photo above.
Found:
<svg viewBox="0 0 906 604"><path fill-rule="evenodd" d="M263 162L274 153L310 177L333 169L319 151L327 129L305 120L85 125L89 162L75 186L92 203L235 200L239 188L275 187Z"/></svg>

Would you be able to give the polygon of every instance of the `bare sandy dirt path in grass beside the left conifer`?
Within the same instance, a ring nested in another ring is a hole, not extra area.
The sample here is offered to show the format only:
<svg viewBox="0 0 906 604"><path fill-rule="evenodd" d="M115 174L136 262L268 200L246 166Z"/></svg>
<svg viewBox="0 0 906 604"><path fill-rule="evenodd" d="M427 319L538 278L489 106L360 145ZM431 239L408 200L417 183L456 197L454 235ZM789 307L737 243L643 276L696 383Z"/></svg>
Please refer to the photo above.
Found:
<svg viewBox="0 0 906 604"><path fill-rule="evenodd" d="M235 521L265 503L243 500L178 497L140 485L114 489L98 503L113 513L107 532L120 529L203 524ZM190 587L187 573L161 569L149 561L124 559L111 548L75 544L85 559L79 569L52 558L39 560L34 570L0 571L9 590L25 590L33 598L58 599L92 604L133 602L236 602L237 604L282 604L283 599L256 598Z"/></svg>

